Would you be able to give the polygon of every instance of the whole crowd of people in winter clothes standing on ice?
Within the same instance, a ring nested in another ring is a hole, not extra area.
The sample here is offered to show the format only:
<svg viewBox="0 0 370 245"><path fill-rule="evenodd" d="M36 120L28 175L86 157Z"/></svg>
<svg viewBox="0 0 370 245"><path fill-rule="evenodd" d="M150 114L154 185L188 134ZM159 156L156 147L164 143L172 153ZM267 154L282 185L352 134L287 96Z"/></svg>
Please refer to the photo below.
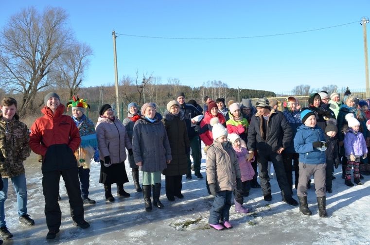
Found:
<svg viewBox="0 0 370 245"><path fill-rule="evenodd" d="M125 168L128 159L135 190L143 193L145 211L153 210L153 206L164 208L159 199L161 175L165 176L166 197L173 202L175 197L184 198L182 177L192 179L193 170L199 180L205 177L207 192L214 196L209 225L217 230L232 228L232 196L240 213L249 212L244 197L251 189L261 188L264 200L271 201L271 177L277 179L283 202L299 205L302 214L311 215L307 189L313 176L318 214L327 217L326 194L333 192L334 168L341 164L344 184L349 187L362 185L363 175L370 175L370 100L358 100L349 90L343 100L336 92L313 93L304 108L293 96L284 102L260 98L255 105L229 101L228 106L224 98L213 101L206 96L203 106L195 100L186 103L185 98L183 92L178 93L163 115L155 103L139 107L131 102L123 122L105 104L94 126L86 114L86 99L73 96L67 103L69 116L64 114L66 106L59 95L51 92L44 98L44 115L30 130L19 121L17 101L4 98L0 105L0 237L13 236L6 227L4 210L9 178L17 194L19 223L35 224L27 211L23 166L31 150L41 156L47 239L54 239L61 226L61 176L73 225L90 226L84 219L84 204L95 204L88 196L91 161L100 162L99 182L106 202L114 202L114 183L118 196L130 197L124 190L129 181ZM278 110L280 104L282 111ZM202 142L205 176L200 166ZM274 175L270 173L271 165ZM293 187L299 202L293 198Z"/></svg>

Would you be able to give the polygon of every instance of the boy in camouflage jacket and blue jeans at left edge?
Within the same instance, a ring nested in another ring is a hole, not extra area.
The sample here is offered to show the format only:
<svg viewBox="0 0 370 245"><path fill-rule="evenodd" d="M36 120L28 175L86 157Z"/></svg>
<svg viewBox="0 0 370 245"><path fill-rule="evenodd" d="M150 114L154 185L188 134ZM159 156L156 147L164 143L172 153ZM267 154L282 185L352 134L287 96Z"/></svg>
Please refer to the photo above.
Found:
<svg viewBox="0 0 370 245"><path fill-rule="evenodd" d="M30 156L30 132L27 125L19 121L16 113L17 101L6 97L0 105L0 173L3 188L0 190L0 237L9 239L5 223L4 203L8 192L8 179L11 178L17 193L19 223L33 226L35 221L27 214L27 183L23 161Z"/></svg>

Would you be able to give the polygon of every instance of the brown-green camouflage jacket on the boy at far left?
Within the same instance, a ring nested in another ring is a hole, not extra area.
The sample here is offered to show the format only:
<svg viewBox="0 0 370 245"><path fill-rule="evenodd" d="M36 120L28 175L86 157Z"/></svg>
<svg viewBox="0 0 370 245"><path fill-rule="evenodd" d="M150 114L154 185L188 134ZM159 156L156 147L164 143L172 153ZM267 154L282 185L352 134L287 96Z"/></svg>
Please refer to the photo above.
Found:
<svg viewBox="0 0 370 245"><path fill-rule="evenodd" d="M0 173L3 178L24 174L23 161L30 156L30 131L16 114L9 122L0 113Z"/></svg>

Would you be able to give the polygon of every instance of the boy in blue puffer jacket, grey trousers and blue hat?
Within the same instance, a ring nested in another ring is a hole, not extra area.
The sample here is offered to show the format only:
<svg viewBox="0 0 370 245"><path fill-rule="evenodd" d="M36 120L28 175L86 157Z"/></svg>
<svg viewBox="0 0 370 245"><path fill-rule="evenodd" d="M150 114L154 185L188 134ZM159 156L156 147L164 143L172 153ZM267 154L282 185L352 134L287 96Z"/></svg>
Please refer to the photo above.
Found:
<svg viewBox="0 0 370 245"><path fill-rule="evenodd" d="M303 109L300 118L303 125L297 128L297 134L294 137L294 149L300 154L300 177L297 190L300 211L304 215L312 214L307 205L307 181L314 175L318 213L320 217L327 217L324 132L316 125L314 111Z"/></svg>

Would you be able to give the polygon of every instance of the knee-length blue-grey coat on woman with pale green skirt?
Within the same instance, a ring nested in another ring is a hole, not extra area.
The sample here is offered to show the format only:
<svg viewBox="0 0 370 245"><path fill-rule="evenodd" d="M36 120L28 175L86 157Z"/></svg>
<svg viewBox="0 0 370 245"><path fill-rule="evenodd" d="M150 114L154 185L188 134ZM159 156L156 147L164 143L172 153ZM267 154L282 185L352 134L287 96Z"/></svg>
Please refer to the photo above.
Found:
<svg viewBox="0 0 370 245"><path fill-rule="evenodd" d="M163 171L166 161L172 160L166 129L157 116L155 120L151 123L142 116L132 134L135 163L141 162L141 171L145 172Z"/></svg>

